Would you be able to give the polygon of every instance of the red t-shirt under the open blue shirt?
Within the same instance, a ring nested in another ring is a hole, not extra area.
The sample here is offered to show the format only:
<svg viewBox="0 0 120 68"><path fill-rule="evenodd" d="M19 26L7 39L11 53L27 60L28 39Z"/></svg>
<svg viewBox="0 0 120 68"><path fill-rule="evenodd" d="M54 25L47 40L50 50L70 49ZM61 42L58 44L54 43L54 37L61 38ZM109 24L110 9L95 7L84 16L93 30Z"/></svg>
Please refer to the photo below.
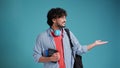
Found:
<svg viewBox="0 0 120 68"><path fill-rule="evenodd" d="M60 59L58 61L59 68L65 68L62 35L55 36L54 33L52 33L52 35L53 35L53 38L54 38L54 41L55 41L56 50L58 50L58 52L60 54Z"/></svg>

